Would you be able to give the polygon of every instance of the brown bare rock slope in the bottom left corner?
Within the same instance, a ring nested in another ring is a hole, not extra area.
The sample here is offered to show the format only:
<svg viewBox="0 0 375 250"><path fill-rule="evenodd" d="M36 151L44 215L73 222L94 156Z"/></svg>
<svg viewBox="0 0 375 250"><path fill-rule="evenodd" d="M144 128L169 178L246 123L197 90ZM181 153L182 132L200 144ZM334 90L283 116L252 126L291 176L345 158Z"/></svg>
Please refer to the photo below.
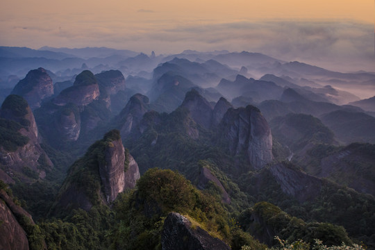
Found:
<svg viewBox="0 0 375 250"><path fill-rule="evenodd" d="M24 228L17 217L26 216L33 224L33 219L24 209L15 205L4 190L0 190L0 249L28 250L28 240Z"/></svg>

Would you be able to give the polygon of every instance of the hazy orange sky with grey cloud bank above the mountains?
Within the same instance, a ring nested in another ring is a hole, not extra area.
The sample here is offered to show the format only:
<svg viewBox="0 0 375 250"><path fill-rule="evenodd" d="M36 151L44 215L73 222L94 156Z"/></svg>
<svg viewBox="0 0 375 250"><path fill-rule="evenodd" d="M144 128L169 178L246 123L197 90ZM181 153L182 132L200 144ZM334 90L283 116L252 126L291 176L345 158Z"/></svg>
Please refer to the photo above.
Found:
<svg viewBox="0 0 375 250"><path fill-rule="evenodd" d="M375 69L374 0L0 1L2 46L246 50Z"/></svg>

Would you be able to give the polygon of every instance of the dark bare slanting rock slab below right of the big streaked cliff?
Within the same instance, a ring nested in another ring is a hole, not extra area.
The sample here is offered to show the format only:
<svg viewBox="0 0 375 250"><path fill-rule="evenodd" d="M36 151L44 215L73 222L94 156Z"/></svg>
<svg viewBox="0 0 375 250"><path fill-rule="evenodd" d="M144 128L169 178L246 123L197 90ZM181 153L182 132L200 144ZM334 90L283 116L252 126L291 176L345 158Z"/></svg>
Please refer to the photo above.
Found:
<svg viewBox="0 0 375 250"><path fill-rule="evenodd" d="M285 194L290 194L299 202L313 201L322 188L320 178L310 176L295 167L278 163L269 167L276 182L281 186Z"/></svg>

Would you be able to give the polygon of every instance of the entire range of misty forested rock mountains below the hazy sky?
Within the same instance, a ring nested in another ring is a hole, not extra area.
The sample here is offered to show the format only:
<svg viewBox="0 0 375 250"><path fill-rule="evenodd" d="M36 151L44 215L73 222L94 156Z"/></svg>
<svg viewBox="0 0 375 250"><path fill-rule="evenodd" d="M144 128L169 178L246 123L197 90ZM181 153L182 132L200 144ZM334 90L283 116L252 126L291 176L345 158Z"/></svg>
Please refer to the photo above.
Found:
<svg viewBox="0 0 375 250"><path fill-rule="evenodd" d="M0 78L0 249L375 249L372 72L0 47Z"/></svg>

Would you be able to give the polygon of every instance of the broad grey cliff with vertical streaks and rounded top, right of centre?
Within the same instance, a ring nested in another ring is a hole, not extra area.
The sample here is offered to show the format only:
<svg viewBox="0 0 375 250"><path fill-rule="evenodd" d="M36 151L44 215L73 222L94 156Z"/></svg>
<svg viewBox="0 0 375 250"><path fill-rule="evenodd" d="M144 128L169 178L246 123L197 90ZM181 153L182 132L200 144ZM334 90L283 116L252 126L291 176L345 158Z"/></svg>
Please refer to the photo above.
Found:
<svg viewBox="0 0 375 250"><path fill-rule="evenodd" d="M260 169L273 160L271 130L258 108L249 105L228 109L219 132L231 155L244 154L254 169Z"/></svg>

